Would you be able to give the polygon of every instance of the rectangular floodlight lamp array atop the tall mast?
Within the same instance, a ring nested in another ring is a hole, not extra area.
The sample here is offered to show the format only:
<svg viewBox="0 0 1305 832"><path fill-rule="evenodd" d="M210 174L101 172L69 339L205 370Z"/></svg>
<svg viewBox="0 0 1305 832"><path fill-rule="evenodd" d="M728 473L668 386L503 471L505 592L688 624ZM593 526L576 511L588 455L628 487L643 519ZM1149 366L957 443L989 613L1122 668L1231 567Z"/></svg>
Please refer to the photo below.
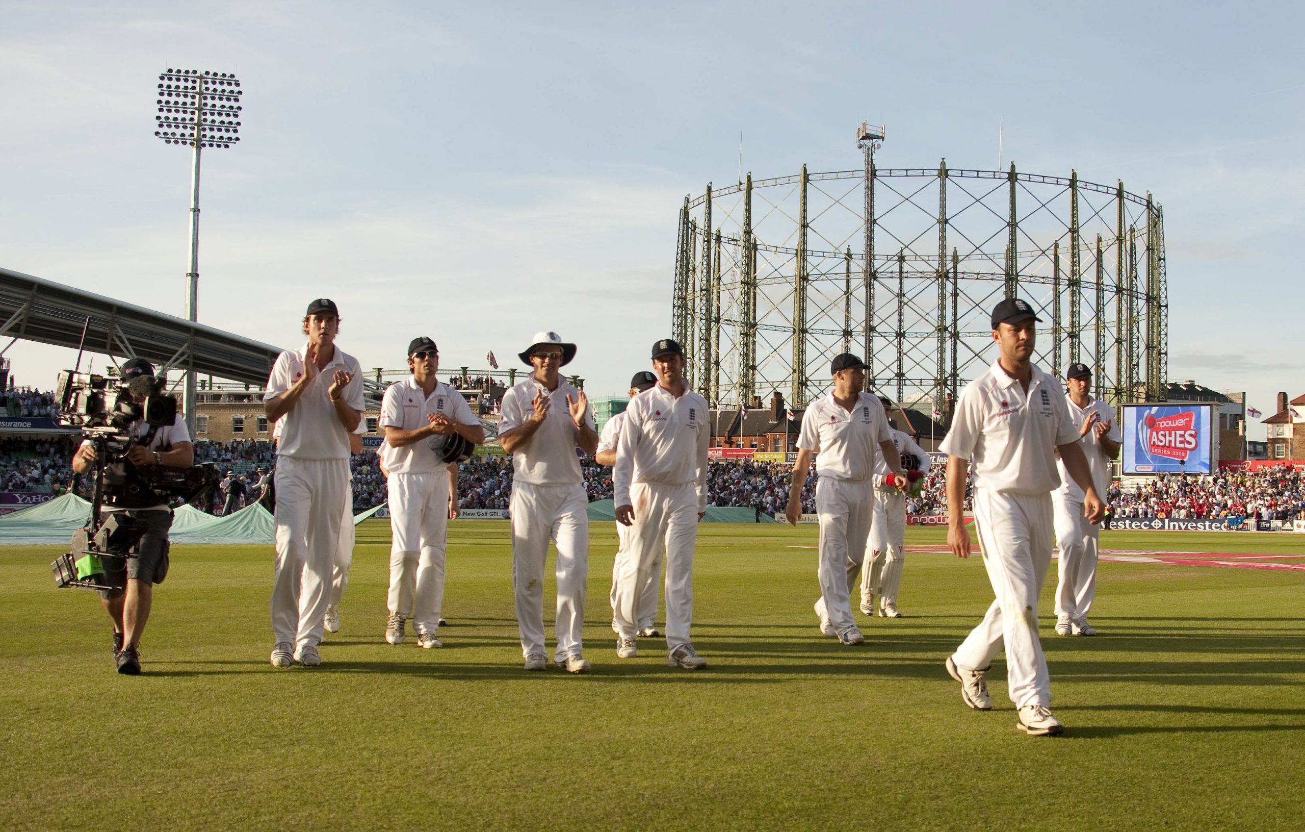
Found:
<svg viewBox="0 0 1305 832"><path fill-rule="evenodd" d="M159 74L154 135L187 148L230 148L240 141L240 81L234 73L168 69Z"/></svg>

